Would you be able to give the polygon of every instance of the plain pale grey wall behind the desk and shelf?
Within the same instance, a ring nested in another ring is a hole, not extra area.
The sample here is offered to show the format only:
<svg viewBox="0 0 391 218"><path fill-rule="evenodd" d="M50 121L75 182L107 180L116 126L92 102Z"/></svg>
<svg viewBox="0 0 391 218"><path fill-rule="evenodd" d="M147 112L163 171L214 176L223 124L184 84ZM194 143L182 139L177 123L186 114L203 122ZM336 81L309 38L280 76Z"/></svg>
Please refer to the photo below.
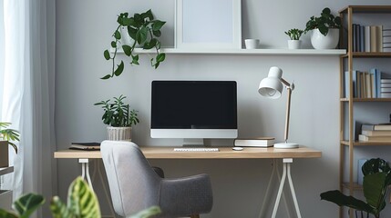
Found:
<svg viewBox="0 0 391 218"><path fill-rule="evenodd" d="M325 6L335 13L343 6L353 4L366 3L365 0L335 3L242 0L242 38L260 38L262 47L286 47L287 36L283 31L304 28L308 18L318 15ZM389 1L372 1L371 4L389 4ZM102 111L93 104L119 94L127 95L131 106L139 110L141 123L134 128L134 142L179 145L180 140L149 137L150 82L155 79L236 80L239 136L274 136L281 141L286 95L273 101L257 93L260 80L267 75L270 66L277 65L283 68L284 78L294 80L296 84L290 140L323 152L320 159L293 163L293 183L302 215L337 217L337 206L321 202L319 193L338 189L338 57L168 54L166 61L154 70L149 67L149 57L143 55L140 66L126 64L125 73L119 78L100 80L99 77L110 71L103 51L108 48L110 36L117 26L117 15L139 13L149 8L159 19L167 21L163 45L173 45L174 0L57 1L57 150L67 149L71 142L104 140L105 126L100 121ZM304 40L304 46L309 47L308 37ZM232 144L232 141L211 141L211 144ZM270 160L155 160L151 163L161 166L168 177L211 174L214 206L210 214L202 217L256 217L271 172ZM66 196L68 184L79 173L80 165L76 160L58 161L60 196ZM101 204L106 210L107 205ZM283 204L277 217L289 217Z"/></svg>

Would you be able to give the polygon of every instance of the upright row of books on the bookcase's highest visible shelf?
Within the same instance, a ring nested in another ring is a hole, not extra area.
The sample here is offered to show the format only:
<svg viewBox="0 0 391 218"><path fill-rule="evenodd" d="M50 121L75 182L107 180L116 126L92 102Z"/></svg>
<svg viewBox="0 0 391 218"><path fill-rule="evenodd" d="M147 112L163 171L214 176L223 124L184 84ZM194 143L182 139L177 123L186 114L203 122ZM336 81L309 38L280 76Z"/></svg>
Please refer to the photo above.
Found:
<svg viewBox="0 0 391 218"><path fill-rule="evenodd" d="M353 29L353 52L391 52L391 26L357 25Z"/></svg>

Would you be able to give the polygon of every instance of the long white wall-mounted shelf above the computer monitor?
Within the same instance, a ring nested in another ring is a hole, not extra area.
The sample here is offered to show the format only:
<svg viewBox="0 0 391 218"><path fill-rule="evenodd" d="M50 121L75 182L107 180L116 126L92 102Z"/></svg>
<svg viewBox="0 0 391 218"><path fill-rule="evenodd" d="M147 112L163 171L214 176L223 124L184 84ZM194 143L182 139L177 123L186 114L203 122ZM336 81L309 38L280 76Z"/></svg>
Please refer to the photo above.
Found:
<svg viewBox="0 0 391 218"><path fill-rule="evenodd" d="M166 54L222 54L222 55L341 55L346 54L345 49L177 49L161 48L161 52ZM111 50L113 53L114 50ZM143 50L136 48L137 54L154 54L155 50ZM118 50L118 54L123 54Z"/></svg>

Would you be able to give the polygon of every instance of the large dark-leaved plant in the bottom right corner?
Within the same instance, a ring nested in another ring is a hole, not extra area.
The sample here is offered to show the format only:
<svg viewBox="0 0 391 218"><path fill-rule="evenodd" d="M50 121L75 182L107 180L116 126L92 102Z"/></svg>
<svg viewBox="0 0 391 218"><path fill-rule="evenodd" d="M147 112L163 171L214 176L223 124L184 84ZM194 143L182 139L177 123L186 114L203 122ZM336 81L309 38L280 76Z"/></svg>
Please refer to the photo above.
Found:
<svg viewBox="0 0 391 218"><path fill-rule="evenodd" d="M376 158L366 161L362 171L366 203L353 196L346 196L339 190L321 193L321 199L355 209L357 218L369 217L369 213L380 218L380 212L386 207L386 194L388 185L391 184L391 168L385 160Z"/></svg>

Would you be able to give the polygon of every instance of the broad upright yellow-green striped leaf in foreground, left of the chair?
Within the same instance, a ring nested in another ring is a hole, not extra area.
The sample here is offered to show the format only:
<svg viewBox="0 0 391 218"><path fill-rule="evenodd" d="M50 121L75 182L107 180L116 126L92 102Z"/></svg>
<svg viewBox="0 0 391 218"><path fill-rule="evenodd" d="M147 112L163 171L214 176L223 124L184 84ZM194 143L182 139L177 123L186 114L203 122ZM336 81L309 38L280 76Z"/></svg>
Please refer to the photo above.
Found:
<svg viewBox="0 0 391 218"><path fill-rule="evenodd" d="M100 218L97 195L78 176L68 189L67 207L80 218Z"/></svg>

